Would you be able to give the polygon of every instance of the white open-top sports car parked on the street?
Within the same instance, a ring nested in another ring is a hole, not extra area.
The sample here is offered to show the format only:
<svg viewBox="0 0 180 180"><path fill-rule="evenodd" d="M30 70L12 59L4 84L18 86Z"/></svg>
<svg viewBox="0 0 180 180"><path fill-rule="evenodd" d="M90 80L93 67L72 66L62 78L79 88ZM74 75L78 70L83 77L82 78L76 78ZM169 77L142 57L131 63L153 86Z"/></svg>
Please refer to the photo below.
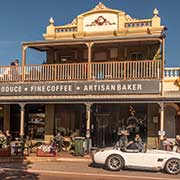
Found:
<svg viewBox="0 0 180 180"><path fill-rule="evenodd" d="M123 168L165 170L169 174L180 172L180 154L171 151L146 150L144 152L126 151L119 148L100 149L92 155L93 163L106 165L109 170Z"/></svg>

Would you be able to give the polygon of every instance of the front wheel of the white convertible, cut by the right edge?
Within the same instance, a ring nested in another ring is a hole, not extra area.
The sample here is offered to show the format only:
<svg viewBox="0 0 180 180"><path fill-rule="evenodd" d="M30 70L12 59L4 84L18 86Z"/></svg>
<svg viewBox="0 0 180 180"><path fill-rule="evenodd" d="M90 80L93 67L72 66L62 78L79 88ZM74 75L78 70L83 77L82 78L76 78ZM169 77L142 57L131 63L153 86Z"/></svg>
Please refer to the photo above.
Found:
<svg viewBox="0 0 180 180"><path fill-rule="evenodd" d="M176 158L169 159L165 164L165 171L169 174L180 173L180 160Z"/></svg>

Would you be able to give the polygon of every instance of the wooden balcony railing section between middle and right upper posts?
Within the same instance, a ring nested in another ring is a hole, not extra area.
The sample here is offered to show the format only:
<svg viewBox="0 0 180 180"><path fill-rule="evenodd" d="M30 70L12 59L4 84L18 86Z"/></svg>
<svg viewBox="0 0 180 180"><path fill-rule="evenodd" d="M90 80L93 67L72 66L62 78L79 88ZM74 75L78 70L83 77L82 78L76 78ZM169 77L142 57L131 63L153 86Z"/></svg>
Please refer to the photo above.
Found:
<svg viewBox="0 0 180 180"><path fill-rule="evenodd" d="M91 64L92 79L152 79L160 78L160 61L122 61Z"/></svg>

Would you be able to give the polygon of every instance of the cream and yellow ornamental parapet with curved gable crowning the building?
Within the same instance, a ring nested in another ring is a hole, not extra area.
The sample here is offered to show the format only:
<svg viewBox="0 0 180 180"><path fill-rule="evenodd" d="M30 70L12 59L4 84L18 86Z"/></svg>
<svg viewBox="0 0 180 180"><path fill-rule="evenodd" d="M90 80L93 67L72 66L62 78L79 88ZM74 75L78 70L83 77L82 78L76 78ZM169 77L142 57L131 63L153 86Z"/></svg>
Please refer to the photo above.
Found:
<svg viewBox="0 0 180 180"><path fill-rule="evenodd" d="M135 19L124 11L110 9L99 3L95 8L77 16L70 24L55 26L50 19L45 39L74 39L102 36L161 34L164 26L158 10L151 19Z"/></svg>

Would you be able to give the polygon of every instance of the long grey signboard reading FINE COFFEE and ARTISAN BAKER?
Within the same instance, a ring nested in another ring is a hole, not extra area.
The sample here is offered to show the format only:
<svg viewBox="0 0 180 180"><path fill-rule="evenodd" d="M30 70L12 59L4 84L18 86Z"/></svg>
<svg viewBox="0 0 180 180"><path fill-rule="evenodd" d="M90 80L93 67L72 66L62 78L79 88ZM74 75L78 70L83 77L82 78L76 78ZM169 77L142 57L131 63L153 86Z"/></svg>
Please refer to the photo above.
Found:
<svg viewBox="0 0 180 180"><path fill-rule="evenodd" d="M160 93L160 81L85 81L0 84L0 96L108 95Z"/></svg>

